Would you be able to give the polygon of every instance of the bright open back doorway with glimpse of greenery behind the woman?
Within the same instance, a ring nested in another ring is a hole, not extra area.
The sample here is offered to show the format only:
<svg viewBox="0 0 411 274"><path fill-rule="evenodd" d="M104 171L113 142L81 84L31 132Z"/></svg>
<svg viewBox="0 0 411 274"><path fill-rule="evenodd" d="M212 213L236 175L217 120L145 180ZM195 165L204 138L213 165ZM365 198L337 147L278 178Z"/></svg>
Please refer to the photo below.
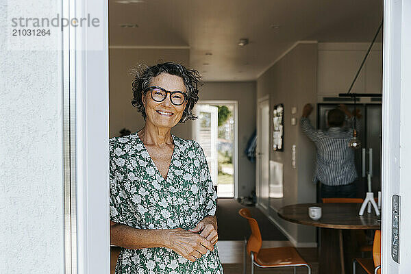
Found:
<svg viewBox="0 0 411 274"><path fill-rule="evenodd" d="M237 178L237 102L199 101L192 139L204 150L217 197L233 198Z"/></svg>

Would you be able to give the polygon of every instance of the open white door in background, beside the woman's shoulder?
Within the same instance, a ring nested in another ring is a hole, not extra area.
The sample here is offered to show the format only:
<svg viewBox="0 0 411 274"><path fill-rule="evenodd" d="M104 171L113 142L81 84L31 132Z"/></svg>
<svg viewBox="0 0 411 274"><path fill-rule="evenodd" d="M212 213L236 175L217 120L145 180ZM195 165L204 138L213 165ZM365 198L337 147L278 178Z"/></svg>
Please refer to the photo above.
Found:
<svg viewBox="0 0 411 274"><path fill-rule="evenodd" d="M193 122L192 138L203 148L214 186L219 175L217 136L219 129L219 108L214 105L198 104L195 113L199 119Z"/></svg>

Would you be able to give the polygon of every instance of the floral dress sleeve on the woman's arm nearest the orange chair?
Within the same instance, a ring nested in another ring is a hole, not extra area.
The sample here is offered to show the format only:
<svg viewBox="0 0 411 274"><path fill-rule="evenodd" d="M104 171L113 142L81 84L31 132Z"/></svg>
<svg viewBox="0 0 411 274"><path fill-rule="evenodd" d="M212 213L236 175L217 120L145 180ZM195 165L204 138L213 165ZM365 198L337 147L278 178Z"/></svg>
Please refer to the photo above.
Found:
<svg viewBox="0 0 411 274"><path fill-rule="evenodd" d="M210 169L208 169L208 163L206 155L204 155L203 149L196 142L199 149L199 161L200 161L200 183L201 183L201 195L203 201L203 214L205 216L214 216L216 214L216 192L214 185L212 184Z"/></svg>

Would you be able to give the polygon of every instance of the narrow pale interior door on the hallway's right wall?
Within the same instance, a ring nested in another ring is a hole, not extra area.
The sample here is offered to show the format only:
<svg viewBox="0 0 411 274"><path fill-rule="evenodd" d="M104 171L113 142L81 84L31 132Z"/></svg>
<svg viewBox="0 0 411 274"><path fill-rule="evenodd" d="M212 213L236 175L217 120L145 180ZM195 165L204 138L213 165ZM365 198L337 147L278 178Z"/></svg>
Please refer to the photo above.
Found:
<svg viewBox="0 0 411 274"><path fill-rule="evenodd" d="M265 210L269 209L269 180L270 180L270 105L269 100L258 103L257 113L257 172L256 194L258 204Z"/></svg>

